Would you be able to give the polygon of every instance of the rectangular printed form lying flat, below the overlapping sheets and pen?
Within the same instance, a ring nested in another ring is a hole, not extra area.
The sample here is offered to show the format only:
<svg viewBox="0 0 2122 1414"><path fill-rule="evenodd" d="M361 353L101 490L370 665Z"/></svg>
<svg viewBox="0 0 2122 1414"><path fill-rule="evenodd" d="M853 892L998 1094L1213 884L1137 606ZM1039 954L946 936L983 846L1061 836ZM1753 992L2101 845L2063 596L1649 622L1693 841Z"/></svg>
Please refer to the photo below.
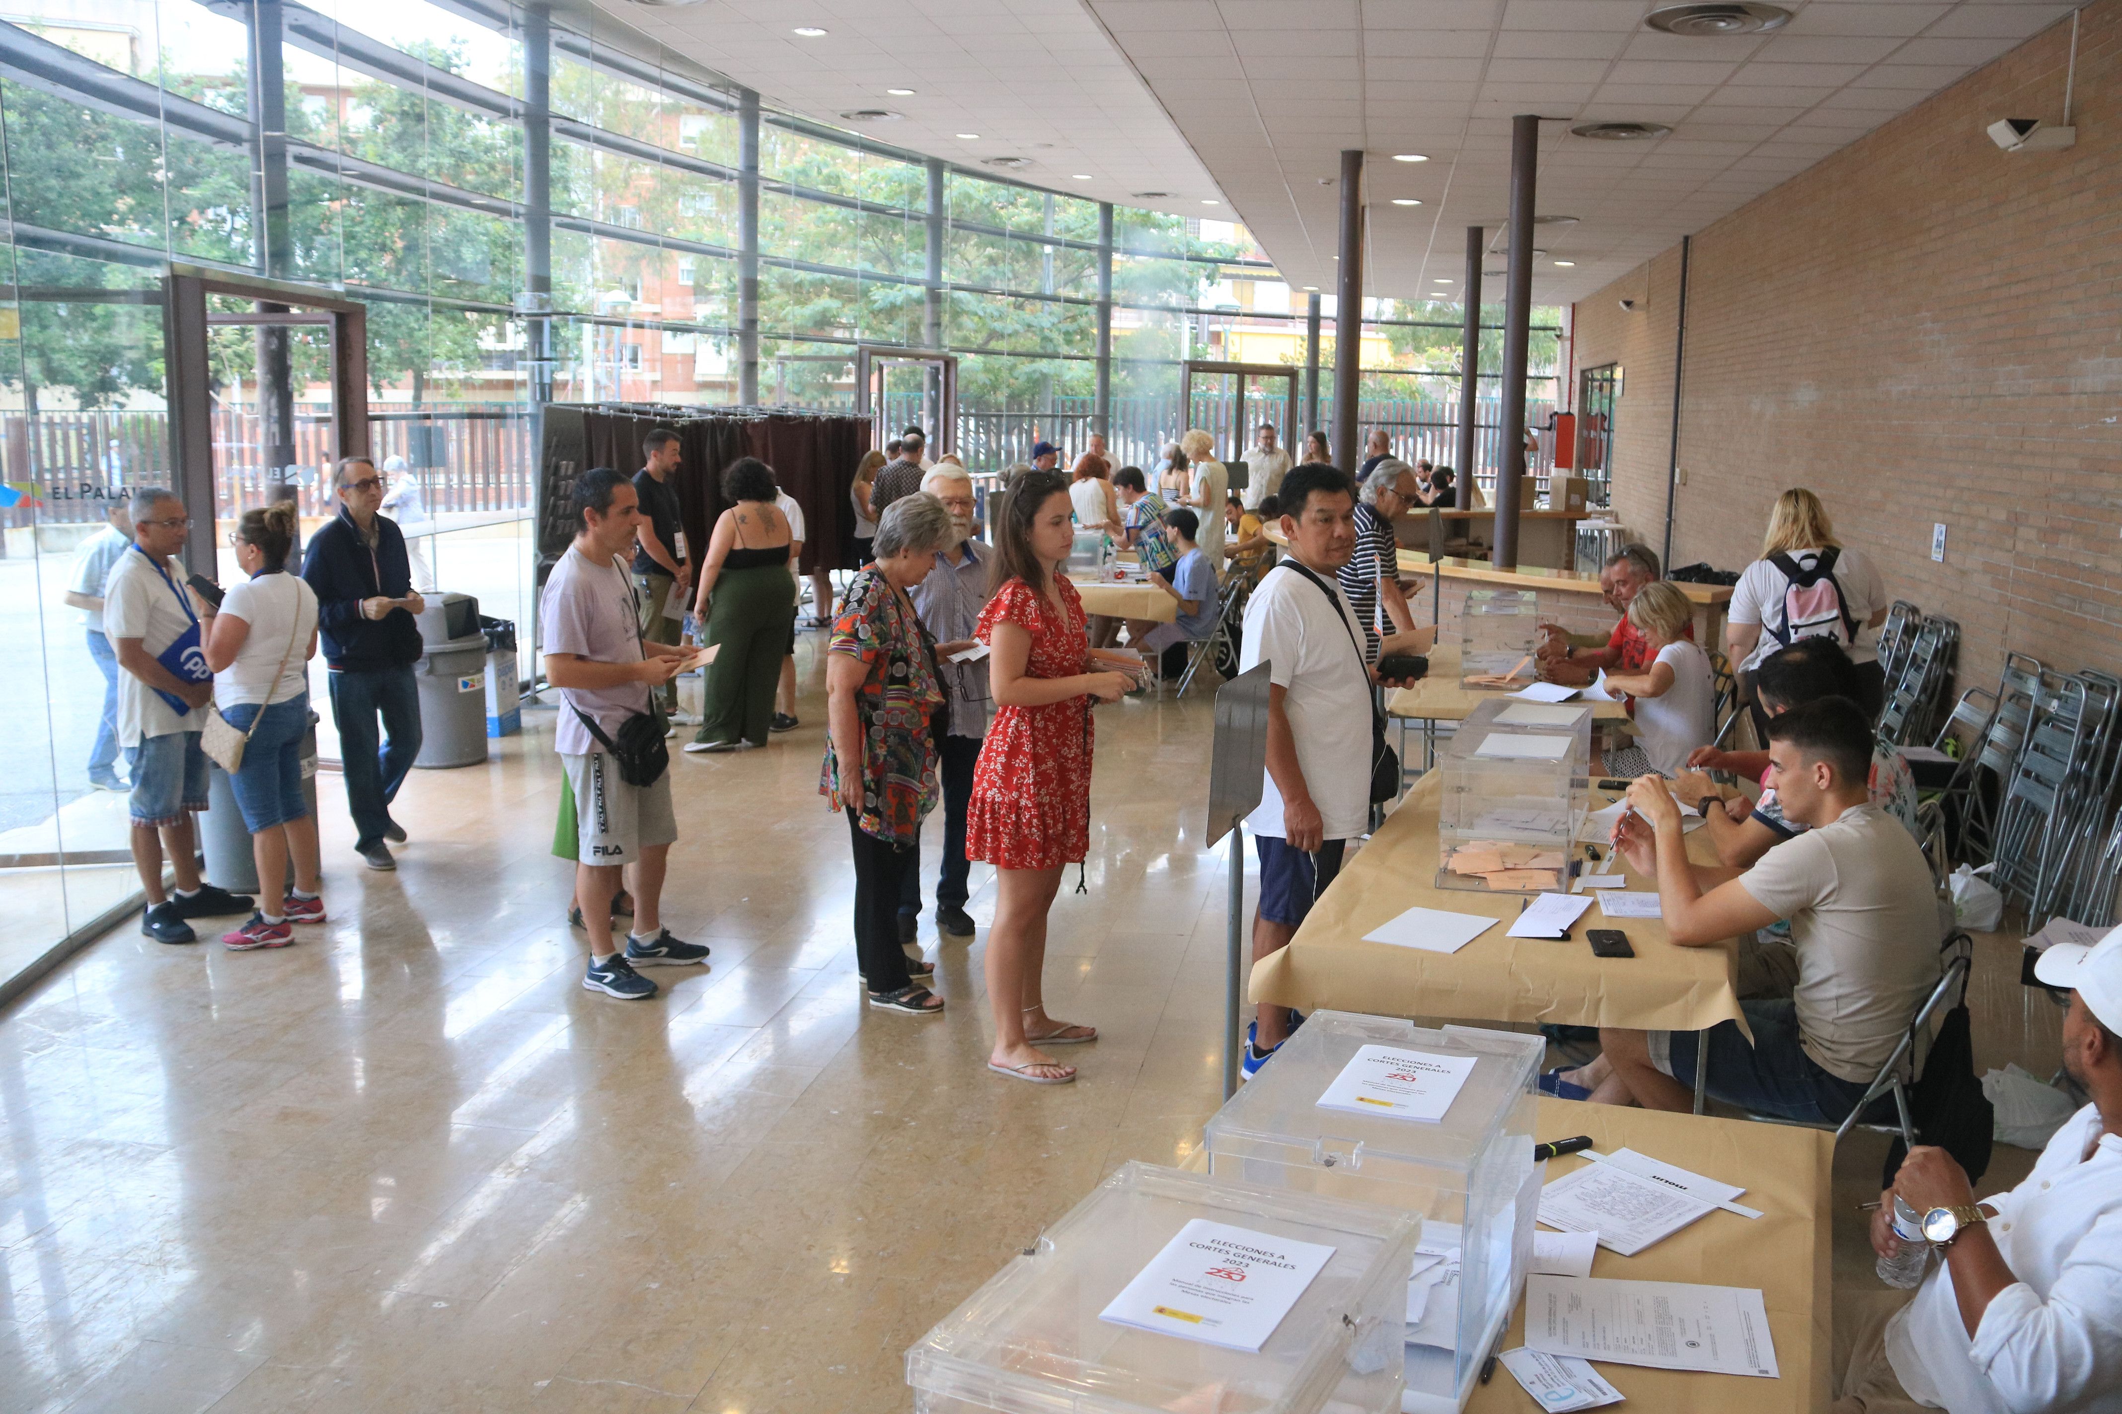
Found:
<svg viewBox="0 0 2122 1414"><path fill-rule="evenodd" d="M1780 1376L1768 1308L1751 1287L1528 1276L1526 1344L1617 1365Z"/></svg>

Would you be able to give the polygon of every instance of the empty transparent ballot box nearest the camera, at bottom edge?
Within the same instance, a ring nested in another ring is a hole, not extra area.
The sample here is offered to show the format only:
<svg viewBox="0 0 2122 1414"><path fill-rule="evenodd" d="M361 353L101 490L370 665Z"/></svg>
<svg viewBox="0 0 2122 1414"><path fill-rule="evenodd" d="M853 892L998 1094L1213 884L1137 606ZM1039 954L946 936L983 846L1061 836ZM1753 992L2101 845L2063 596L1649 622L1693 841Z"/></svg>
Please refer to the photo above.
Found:
<svg viewBox="0 0 2122 1414"><path fill-rule="evenodd" d="M1229 1236L1214 1234L1231 1230L1241 1253L1318 1261L1330 1249L1258 1348L1201 1340L1201 1319L1180 1308L1239 1312L1229 1316L1233 1333L1246 1302L1263 1304L1252 1310L1260 1321L1282 1310L1273 1297L1288 1297L1288 1278L1216 1257L1214 1244ZM1125 1164L906 1353L915 1410L1390 1414L1401 1408L1417 1232L1417 1221L1390 1208ZM1169 1304L1131 1304L1152 1274L1146 1268L1163 1272L1167 1253L1186 1257L1197 1247L1210 1255L1188 1280L1214 1293L1180 1287ZM1110 1319L1116 1312L1154 1312L1150 1321L1190 1333Z"/></svg>

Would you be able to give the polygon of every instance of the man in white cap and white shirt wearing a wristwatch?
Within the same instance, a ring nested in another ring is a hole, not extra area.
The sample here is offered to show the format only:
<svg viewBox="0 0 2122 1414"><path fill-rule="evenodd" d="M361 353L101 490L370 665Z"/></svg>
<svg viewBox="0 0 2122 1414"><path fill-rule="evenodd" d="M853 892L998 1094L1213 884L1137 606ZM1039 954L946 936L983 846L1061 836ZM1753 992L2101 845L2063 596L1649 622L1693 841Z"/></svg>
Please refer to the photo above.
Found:
<svg viewBox="0 0 2122 1414"><path fill-rule="evenodd" d="M1942 1261L1914 1302L1859 1331L1836 1414L2122 1408L2122 929L2092 948L2052 945L2033 975L2071 990L2063 1068L2092 1102L2024 1183L1980 1204L1950 1153L1908 1153L1872 1247L1899 1251L1899 1196Z"/></svg>

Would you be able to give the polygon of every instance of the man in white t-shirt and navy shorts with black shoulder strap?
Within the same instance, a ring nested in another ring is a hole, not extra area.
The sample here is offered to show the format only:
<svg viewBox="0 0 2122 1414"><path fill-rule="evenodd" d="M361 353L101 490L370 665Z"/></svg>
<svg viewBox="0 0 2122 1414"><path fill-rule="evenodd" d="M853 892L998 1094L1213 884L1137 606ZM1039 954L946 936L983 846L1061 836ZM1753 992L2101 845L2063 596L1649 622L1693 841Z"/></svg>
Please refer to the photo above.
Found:
<svg viewBox="0 0 2122 1414"><path fill-rule="evenodd" d="M1237 664L1239 672L1271 664L1267 780L1260 806L1246 818L1260 854L1254 965L1290 945L1311 901L1341 871L1347 842L1371 823L1375 670L1364 661L1362 623L1335 579L1356 553L1356 483L1339 466L1292 469L1282 481L1282 532L1288 555L1246 602ZM1288 1028L1288 1007L1258 1007L1246 1075L1275 1054Z"/></svg>

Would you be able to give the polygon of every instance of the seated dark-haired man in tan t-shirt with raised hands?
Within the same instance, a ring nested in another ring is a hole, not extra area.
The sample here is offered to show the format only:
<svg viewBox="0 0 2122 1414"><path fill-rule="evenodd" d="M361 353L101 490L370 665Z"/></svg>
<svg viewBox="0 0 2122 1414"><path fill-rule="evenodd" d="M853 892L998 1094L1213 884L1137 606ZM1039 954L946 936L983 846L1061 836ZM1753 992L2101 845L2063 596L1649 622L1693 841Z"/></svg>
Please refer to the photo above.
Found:
<svg viewBox="0 0 2122 1414"><path fill-rule="evenodd" d="M1791 708L1768 727L1768 784L1806 833L1746 873L1687 861L1681 808L1657 776L1628 789L1634 812L1615 842L1657 880L1666 931L1683 948L1791 922L1797 988L1742 1001L1708 1032L1708 1094L1753 1113L1840 1124L1893 1054L1940 975L1931 869L1899 820L1872 803L1872 727L1844 697ZM1693 1109L1691 1030L1600 1028L1604 1051L1543 1090L1608 1104ZM1560 1085L1583 1090L1562 1090Z"/></svg>

